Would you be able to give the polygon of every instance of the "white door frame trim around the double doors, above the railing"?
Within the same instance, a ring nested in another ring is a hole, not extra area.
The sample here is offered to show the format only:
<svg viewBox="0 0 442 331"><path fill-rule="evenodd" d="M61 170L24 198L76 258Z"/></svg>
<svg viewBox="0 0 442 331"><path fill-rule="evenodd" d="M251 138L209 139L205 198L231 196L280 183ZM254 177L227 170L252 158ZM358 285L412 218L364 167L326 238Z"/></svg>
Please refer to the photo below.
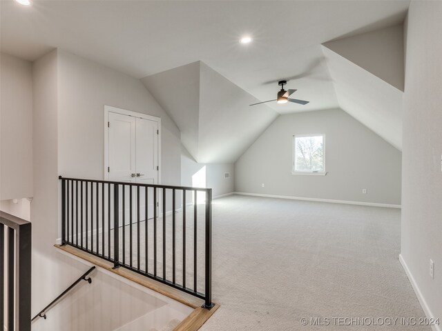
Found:
<svg viewBox="0 0 442 331"><path fill-rule="evenodd" d="M104 180L109 180L109 130L108 130L108 121L109 121L109 113L115 112L116 114L127 115L139 119L148 119L149 121L156 121L158 128L158 183L161 184L161 118L151 116L148 114L143 114L141 112L132 112L131 110L126 110L122 108L117 108L113 106L104 105Z"/></svg>

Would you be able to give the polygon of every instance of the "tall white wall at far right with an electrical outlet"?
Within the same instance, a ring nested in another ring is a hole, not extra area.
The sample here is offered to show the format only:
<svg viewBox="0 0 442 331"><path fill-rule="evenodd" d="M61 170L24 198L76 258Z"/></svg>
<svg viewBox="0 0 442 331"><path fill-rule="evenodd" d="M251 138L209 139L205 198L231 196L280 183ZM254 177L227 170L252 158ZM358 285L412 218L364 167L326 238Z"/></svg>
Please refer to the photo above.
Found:
<svg viewBox="0 0 442 331"><path fill-rule="evenodd" d="M403 109L401 257L424 310L434 317L442 317L441 17L441 2L410 4Z"/></svg>

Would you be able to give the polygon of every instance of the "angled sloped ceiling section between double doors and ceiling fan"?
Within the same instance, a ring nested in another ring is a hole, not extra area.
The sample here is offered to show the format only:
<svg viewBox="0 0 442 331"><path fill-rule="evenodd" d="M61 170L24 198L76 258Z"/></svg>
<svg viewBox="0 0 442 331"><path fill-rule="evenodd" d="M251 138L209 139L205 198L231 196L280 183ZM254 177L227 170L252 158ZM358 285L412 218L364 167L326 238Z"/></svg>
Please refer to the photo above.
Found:
<svg viewBox="0 0 442 331"><path fill-rule="evenodd" d="M199 163L233 163L278 113L202 62L142 79Z"/></svg>

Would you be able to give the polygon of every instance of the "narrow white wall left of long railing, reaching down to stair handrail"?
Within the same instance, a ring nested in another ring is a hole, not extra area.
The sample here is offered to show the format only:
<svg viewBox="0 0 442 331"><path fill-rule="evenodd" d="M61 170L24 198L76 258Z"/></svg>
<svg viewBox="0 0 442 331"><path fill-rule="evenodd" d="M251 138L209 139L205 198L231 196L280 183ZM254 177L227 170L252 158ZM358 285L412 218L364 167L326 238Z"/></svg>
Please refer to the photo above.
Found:
<svg viewBox="0 0 442 331"><path fill-rule="evenodd" d="M81 274L81 265L55 252L58 233L57 50L33 65L34 198L32 222L32 313L55 299ZM61 330L62 324L58 325Z"/></svg>

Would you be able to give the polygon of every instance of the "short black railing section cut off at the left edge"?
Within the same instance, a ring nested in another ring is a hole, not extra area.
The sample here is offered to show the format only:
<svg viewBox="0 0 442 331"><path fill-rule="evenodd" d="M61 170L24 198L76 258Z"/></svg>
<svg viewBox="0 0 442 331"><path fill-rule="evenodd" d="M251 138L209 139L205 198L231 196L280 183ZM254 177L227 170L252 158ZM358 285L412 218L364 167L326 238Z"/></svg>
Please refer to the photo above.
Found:
<svg viewBox="0 0 442 331"><path fill-rule="evenodd" d="M31 230L30 222L0 212L0 327L11 331L30 331Z"/></svg>

